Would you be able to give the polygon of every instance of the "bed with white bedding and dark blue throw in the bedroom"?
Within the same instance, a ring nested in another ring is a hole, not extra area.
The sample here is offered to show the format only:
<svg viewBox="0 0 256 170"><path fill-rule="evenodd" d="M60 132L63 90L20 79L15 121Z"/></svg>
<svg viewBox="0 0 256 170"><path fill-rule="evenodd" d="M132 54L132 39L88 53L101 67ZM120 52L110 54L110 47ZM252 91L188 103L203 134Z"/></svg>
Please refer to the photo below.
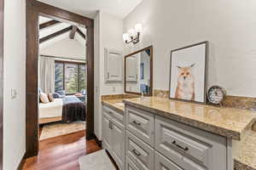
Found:
<svg viewBox="0 0 256 170"><path fill-rule="evenodd" d="M76 96L55 99L47 104L39 104L39 124L48 122L85 121L85 103Z"/></svg>

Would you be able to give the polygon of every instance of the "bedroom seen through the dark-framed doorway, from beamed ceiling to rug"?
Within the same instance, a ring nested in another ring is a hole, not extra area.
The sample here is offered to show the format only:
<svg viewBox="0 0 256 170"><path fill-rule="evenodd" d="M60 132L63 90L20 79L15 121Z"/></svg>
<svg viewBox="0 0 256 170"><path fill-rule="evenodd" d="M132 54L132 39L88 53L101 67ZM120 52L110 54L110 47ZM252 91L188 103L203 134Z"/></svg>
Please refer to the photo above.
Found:
<svg viewBox="0 0 256 170"><path fill-rule="evenodd" d="M39 16L39 140L85 130L86 29Z"/></svg>

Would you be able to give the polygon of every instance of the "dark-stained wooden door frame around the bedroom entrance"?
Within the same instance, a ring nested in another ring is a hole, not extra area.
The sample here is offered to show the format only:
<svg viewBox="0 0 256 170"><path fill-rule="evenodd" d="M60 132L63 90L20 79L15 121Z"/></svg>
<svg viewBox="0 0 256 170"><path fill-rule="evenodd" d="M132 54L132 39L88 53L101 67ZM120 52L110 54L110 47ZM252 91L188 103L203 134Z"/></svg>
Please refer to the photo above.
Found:
<svg viewBox="0 0 256 170"><path fill-rule="evenodd" d="M86 139L94 134L94 20L36 0L26 0L26 157L38 155L38 16L69 22L87 29Z"/></svg>

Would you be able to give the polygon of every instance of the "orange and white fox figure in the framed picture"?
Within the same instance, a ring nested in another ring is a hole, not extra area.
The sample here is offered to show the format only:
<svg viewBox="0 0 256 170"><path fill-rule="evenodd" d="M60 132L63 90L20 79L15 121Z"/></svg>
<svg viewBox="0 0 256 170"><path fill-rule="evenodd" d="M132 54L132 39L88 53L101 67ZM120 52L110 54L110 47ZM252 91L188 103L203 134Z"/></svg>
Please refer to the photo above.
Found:
<svg viewBox="0 0 256 170"><path fill-rule="evenodd" d="M177 65L177 88L175 92L176 99L195 100L195 77L193 74L193 65L181 67Z"/></svg>

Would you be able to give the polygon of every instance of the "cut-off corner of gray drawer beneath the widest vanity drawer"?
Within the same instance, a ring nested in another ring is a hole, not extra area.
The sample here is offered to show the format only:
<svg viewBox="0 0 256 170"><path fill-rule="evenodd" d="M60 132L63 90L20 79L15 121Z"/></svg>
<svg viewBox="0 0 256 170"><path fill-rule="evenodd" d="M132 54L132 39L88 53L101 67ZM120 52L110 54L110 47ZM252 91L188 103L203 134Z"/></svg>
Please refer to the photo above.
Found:
<svg viewBox="0 0 256 170"><path fill-rule="evenodd" d="M184 170L178 167L177 164L168 160L165 156L160 155L157 151L154 152L154 170Z"/></svg>

